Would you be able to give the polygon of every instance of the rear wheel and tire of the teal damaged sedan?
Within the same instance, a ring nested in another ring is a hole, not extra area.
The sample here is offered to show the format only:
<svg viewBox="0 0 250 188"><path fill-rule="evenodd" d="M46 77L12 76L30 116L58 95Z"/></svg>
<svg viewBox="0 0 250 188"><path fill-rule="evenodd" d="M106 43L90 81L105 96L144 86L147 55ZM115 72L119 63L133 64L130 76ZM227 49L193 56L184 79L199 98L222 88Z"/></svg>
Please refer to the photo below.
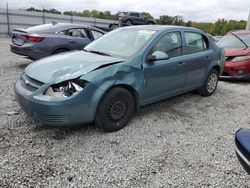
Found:
<svg viewBox="0 0 250 188"><path fill-rule="evenodd" d="M217 88L218 80L219 80L218 71L215 69L212 69L209 72L204 85L198 89L198 93L204 97L208 97L212 95Z"/></svg>

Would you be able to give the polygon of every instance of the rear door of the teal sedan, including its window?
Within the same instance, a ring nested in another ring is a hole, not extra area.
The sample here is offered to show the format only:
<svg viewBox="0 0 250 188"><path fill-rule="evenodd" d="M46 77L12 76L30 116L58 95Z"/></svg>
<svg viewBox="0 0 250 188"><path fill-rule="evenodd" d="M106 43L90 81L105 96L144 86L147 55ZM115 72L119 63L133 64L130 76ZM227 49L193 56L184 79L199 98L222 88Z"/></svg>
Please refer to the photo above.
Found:
<svg viewBox="0 0 250 188"><path fill-rule="evenodd" d="M185 90L196 89L203 84L212 53L207 36L194 31L184 32Z"/></svg>

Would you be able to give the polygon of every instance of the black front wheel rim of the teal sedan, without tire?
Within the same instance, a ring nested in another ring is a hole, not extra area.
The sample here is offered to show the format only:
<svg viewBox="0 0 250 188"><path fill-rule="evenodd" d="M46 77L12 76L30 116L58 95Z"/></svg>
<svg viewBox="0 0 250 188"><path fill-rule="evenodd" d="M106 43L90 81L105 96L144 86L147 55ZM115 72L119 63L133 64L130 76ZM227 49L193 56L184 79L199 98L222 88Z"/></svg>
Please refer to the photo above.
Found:
<svg viewBox="0 0 250 188"><path fill-rule="evenodd" d="M117 99L113 101L108 110L109 118L115 121L121 119L125 115L125 113L126 113L126 104L122 99Z"/></svg>

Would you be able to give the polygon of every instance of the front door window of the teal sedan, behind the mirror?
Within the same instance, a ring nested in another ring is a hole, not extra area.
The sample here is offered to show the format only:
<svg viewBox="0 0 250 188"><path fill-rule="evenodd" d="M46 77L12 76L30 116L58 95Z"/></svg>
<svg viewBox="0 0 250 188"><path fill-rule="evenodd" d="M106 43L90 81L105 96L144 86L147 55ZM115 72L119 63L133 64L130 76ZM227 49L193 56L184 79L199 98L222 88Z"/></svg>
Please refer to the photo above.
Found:
<svg viewBox="0 0 250 188"><path fill-rule="evenodd" d="M169 58L182 55L182 41L180 32L171 32L162 36L153 46L151 53L156 51L164 52Z"/></svg>

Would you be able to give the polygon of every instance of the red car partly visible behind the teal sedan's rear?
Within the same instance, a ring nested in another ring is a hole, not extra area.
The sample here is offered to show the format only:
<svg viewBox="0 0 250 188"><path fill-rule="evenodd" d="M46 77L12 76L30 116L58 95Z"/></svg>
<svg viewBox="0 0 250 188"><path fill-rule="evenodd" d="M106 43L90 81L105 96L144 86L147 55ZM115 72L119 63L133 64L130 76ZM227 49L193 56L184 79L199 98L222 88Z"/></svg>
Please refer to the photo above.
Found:
<svg viewBox="0 0 250 188"><path fill-rule="evenodd" d="M250 31L227 33L217 44L225 49L226 62L222 79L250 79Z"/></svg>

